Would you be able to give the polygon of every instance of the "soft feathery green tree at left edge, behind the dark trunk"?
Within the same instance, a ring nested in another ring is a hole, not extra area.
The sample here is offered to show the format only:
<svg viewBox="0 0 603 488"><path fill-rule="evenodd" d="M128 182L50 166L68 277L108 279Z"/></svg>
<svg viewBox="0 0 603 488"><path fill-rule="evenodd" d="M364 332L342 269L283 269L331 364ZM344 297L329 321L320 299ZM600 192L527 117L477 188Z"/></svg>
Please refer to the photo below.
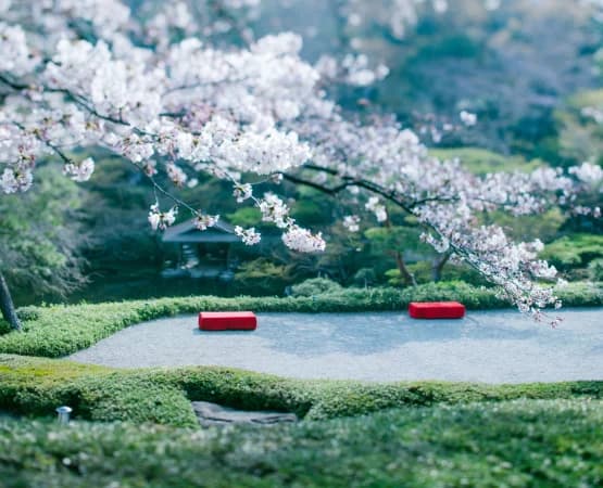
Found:
<svg viewBox="0 0 603 488"><path fill-rule="evenodd" d="M64 297L85 282L81 190L56 167L39 174L30 192L0 198L0 309L15 329L11 288L38 298Z"/></svg>

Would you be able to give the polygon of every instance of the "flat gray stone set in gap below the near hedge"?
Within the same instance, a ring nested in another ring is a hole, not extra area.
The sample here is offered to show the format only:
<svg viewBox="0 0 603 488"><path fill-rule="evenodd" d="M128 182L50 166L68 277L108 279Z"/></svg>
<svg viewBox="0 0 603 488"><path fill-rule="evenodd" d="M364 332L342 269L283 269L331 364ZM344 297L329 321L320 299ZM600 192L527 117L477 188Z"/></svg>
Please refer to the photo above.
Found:
<svg viewBox="0 0 603 488"><path fill-rule="evenodd" d="M272 425L281 422L297 422L294 413L236 410L209 401L193 401L192 409L203 426L227 424Z"/></svg>

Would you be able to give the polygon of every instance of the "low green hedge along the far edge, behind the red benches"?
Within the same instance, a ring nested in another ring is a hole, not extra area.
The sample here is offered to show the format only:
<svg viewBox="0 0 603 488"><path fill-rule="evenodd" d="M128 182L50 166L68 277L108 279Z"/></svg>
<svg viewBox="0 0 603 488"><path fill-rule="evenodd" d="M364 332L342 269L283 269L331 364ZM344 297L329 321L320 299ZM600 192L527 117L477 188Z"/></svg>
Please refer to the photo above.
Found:
<svg viewBox="0 0 603 488"><path fill-rule="evenodd" d="M601 306L603 291L577 283L560 293L566 306ZM159 298L96 305L25 307L20 309L24 332L0 326L0 352L56 358L96 344L139 322L201 310L254 310L256 312L353 312L403 310L410 301L460 300L469 309L508 307L491 288L461 282L426 284L414 288L346 288L309 297L213 296ZM4 333L2 333L4 331Z"/></svg>

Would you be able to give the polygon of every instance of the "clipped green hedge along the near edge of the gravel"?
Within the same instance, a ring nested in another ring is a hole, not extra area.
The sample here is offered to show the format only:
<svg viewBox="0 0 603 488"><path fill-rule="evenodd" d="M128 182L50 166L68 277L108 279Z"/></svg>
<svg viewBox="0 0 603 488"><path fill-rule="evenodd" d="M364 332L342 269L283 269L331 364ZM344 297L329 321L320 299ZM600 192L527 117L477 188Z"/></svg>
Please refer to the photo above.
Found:
<svg viewBox="0 0 603 488"><path fill-rule="evenodd" d="M486 385L445 382L373 384L301 381L228 368L116 370L72 361L0 355L0 410L80 419L196 425L190 400L247 410L294 412L306 420L401 407L516 398L603 398L603 382Z"/></svg>

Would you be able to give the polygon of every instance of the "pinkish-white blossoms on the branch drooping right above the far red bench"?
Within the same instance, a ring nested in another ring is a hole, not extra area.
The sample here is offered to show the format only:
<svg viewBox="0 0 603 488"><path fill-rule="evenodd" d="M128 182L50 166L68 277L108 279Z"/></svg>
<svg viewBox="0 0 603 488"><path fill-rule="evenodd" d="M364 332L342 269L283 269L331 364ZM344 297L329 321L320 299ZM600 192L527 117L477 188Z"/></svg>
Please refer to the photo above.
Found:
<svg viewBox="0 0 603 488"><path fill-rule="evenodd" d="M598 207L577 205L580 194L600 192L603 184L603 171L589 163L566 171L542 166L531 172L477 176L457 159L432 157L414 132L392 119L365 126L336 114L329 123L302 123L297 130L321 141L314 146L314 185L348 191L351 201L359 200L361 189L367 195L365 208L378 221L387 220L386 203L401 207L425 228L424 241L438 253L452 253L538 318L541 308L556 304L551 286L535 284L556 274L538 259L541 243L515 244L500 227L479 227L480 216L498 210L537 215L553 205L594 218L601 214ZM359 223L343 221L353 230Z"/></svg>

